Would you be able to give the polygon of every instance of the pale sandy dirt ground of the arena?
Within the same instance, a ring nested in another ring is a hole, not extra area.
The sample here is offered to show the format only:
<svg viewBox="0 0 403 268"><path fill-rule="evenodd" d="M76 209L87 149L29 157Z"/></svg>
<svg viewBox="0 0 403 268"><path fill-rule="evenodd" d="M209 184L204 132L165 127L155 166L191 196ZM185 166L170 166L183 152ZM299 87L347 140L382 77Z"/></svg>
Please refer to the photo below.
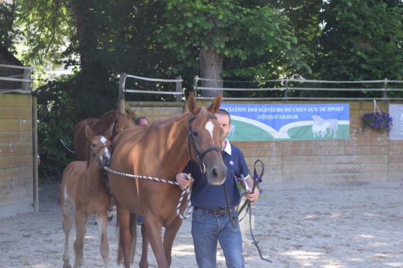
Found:
<svg viewBox="0 0 403 268"><path fill-rule="evenodd" d="M403 267L403 187L338 187L266 191L253 206L263 256L244 248L246 267ZM39 213L0 218L0 267L61 267L64 233L59 184L40 185ZM108 225L109 261L116 267L116 212ZM73 211L72 211L73 215ZM73 218L74 220L74 218ZM85 267L103 267L95 217L85 238ZM174 241L172 267L197 267L190 220ZM73 223L74 226L74 223ZM138 228L140 233L140 228ZM75 227L70 235L74 262ZM134 267L140 260L140 244ZM218 267L225 267L221 250ZM150 267L157 267L149 250Z"/></svg>

